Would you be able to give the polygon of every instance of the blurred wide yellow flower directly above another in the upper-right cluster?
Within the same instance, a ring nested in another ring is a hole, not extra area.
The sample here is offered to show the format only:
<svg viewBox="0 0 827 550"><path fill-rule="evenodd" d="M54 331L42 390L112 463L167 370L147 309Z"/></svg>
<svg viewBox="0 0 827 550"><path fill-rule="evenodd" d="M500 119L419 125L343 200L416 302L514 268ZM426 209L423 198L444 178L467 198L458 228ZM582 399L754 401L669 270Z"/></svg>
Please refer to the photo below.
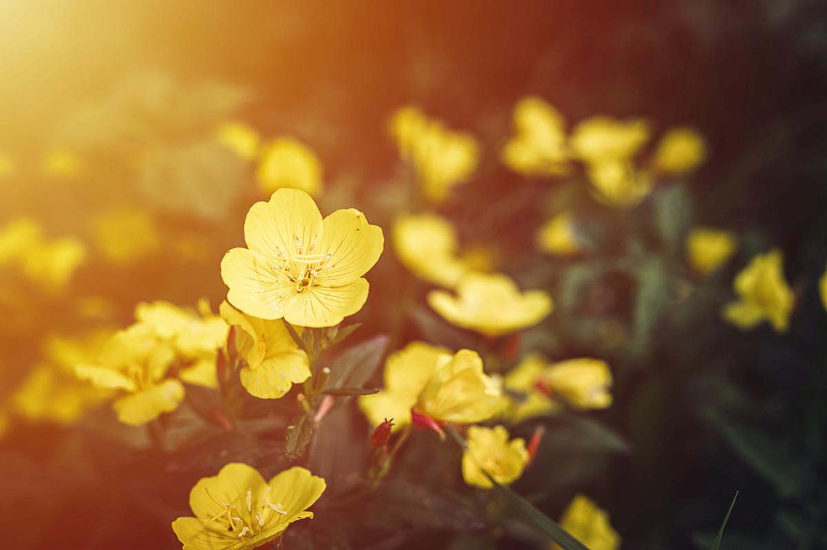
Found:
<svg viewBox="0 0 827 550"><path fill-rule="evenodd" d="M592 117L571 133L571 150L587 164L631 160L649 140L648 124L639 118L627 121Z"/></svg>

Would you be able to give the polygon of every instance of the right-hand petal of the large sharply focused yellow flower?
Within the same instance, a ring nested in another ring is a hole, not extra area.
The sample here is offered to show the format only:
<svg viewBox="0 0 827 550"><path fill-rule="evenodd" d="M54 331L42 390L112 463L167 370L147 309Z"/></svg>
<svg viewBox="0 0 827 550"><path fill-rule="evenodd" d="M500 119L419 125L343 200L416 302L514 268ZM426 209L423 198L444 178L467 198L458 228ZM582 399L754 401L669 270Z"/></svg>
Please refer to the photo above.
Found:
<svg viewBox="0 0 827 550"><path fill-rule="evenodd" d="M325 261L319 280L321 285L342 286L351 283L379 260L385 237L382 228L370 225L365 214L354 208L337 210L324 218L322 230Z"/></svg>

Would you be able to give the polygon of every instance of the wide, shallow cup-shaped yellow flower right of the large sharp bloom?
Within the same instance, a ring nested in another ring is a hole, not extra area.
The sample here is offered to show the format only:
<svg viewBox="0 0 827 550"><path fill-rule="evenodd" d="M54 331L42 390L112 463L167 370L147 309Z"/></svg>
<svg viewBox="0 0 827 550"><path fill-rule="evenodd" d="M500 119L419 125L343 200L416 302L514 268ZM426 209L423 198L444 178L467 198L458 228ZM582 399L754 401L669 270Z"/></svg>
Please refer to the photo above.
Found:
<svg viewBox="0 0 827 550"><path fill-rule="evenodd" d="M428 304L451 323L490 337L536 325L553 308L543 290L520 292L506 275L481 273L462 277L456 296L432 290Z"/></svg>

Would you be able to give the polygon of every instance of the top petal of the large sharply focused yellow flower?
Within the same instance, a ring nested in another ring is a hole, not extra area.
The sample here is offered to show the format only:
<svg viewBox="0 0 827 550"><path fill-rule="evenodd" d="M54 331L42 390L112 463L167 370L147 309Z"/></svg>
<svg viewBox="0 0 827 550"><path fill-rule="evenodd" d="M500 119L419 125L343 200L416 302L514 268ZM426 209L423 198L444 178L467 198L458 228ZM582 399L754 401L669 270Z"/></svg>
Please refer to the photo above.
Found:
<svg viewBox="0 0 827 550"><path fill-rule="evenodd" d="M270 260L311 253L318 249L321 232L322 213L298 189L279 189L270 201L253 204L244 222L247 247Z"/></svg>

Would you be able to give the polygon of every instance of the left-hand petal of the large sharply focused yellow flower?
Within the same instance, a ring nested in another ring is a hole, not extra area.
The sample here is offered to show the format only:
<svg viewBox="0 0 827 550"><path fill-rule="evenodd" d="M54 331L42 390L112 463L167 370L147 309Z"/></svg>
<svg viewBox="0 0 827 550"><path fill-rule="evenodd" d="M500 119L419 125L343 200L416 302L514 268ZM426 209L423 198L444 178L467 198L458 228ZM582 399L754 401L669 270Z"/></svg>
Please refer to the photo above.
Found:
<svg viewBox="0 0 827 550"><path fill-rule="evenodd" d="M221 277L229 287L227 301L244 313L262 319L284 316L281 281L265 256L233 248L221 261Z"/></svg>

